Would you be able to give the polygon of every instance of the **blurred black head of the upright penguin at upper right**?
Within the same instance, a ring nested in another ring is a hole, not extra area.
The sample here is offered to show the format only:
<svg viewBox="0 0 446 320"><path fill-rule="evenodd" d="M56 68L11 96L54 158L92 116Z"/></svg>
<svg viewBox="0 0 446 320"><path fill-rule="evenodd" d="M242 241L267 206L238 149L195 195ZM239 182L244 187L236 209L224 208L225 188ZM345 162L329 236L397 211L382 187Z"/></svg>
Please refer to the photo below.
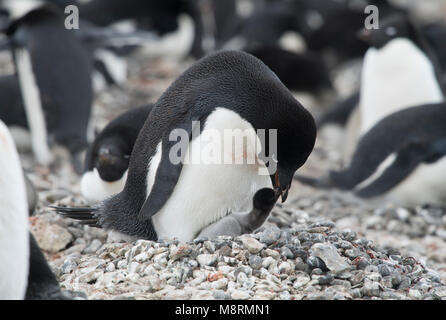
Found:
<svg viewBox="0 0 446 320"><path fill-rule="evenodd" d="M419 45L419 35L409 17L403 14L394 14L383 19L379 29L362 29L358 37L372 47L381 49L391 40L407 38Z"/></svg>

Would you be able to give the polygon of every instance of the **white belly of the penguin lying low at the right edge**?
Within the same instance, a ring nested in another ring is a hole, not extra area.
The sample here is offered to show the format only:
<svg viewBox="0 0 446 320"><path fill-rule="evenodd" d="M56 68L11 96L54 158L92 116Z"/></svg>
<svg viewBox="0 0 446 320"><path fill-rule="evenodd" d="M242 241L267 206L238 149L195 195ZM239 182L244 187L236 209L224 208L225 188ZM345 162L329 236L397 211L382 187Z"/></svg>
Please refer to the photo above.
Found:
<svg viewBox="0 0 446 320"><path fill-rule="evenodd" d="M404 181L387 194L387 198L403 206L423 203L446 203L446 157L433 164L420 164Z"/></svg>

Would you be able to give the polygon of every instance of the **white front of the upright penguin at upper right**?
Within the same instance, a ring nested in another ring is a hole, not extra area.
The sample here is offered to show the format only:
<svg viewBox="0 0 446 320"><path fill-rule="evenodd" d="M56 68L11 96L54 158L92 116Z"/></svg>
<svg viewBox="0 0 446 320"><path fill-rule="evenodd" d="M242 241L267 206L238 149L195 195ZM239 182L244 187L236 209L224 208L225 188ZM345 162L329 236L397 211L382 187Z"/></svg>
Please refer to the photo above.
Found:
<svg viewBox="0 0 446 320"><path fill-rule="evenodd" d="M413 42L397 38L364 59L361 83L361 134L404 108L443 101L435 68Z"/></svg>

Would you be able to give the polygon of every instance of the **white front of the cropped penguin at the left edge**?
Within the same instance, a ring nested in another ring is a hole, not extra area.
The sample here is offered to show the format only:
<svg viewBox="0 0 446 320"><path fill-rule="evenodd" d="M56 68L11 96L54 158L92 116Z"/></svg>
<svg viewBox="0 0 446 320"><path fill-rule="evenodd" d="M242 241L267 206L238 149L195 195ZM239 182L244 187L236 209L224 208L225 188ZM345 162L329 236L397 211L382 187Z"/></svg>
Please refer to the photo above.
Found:
<svg viewBox="0 0 446 320"><path fill-rule="evenodd" d="M20 159L0 121L0 299L23 299L29 266L28 205Z"/></svg>

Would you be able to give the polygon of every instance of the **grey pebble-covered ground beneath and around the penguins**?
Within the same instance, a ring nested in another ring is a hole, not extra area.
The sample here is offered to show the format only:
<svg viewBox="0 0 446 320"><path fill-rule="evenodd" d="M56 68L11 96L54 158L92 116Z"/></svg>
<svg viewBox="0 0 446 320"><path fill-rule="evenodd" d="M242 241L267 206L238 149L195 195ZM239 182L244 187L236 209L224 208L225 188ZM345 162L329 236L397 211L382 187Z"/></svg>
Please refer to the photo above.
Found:
<svg viewBox="0 0 446 320"><path fill-rule="evenodd" d="M0 59L11 65L10 57ZM123 111L156 101L191 62L136 54L129 63L127 83L95 98L98 130ZM302 99L313 114L321 111L312 109L317 100ZM299 173L318 175L339 165L341 135L319 133ZM135 240L48 207L88 204L66 154L56 153L51 169L36 164L29 150L21 150L21 159L39 193L31 231L61 288L75 299L446 300L445 208L372 206L294 181L286 203L254 234L189 243Z"/></svg>

